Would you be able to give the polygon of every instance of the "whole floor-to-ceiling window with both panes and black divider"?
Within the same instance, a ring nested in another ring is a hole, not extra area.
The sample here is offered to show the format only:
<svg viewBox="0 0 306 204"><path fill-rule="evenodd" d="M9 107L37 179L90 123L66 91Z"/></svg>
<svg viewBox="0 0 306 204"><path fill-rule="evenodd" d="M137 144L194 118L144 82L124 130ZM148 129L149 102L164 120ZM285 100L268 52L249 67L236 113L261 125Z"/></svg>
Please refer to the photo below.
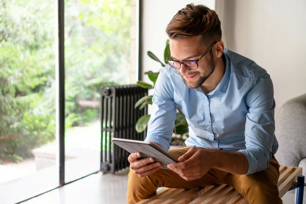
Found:
<svg viewBox="0 0 306 204"><path fill-rule="evenodd" d="M20 202L60 185L56 87L61 73L56 70L56 56L63 39L58 41L55 35L57 3L0 0L4 203ZM135 1L66 0L64 10L65 115L60 119L65 119L67 183L99 171L99 91L101 86L138 80L138 35Z"/></svg>

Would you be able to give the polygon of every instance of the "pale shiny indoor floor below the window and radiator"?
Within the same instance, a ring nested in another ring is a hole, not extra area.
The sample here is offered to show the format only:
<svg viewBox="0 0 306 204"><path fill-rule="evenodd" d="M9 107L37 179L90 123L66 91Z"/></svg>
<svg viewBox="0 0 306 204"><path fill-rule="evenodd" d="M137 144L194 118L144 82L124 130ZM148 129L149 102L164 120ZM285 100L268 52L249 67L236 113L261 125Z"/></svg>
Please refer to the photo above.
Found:
<svg viewBox="0 0 306 204"><path fill-rule="evenodd" d="M128 169L116 174L92 174L23 204L102 204L126 203ZM286 193L284 204L294 204L294 193Z"/></svg>

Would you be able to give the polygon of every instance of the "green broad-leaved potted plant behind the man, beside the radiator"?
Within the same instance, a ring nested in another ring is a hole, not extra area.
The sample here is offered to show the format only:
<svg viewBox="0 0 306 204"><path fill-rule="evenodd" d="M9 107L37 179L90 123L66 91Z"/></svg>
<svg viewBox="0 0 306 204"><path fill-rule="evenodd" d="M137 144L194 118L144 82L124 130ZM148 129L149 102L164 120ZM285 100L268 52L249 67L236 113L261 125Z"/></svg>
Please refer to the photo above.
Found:
<svg viewBox="0 0 306 204"><path fill-rule="evenodd" d="M170 53L170 47L169 47L169 39L166 41L166 48L164 50L164 58L168 56ZM147 54L149 57L151 57L153 60L158 61L163 67L166 66L162 61L160 61L151 51L148 51ZM165 63L167 64L167 61L165 60ZM157 80L157 76L159 75L159 72L152 72L148 71L145 72L145 74L149 77L149 79L153 82L152 84L138 81L137 85L143 88L152 89L155 86L155 82ZM134 108L139 107L139 109L143 109L146 105L152 104L152 95L147 95L142 98L140 98L136 103ZM144 115L138 119L136 122L136 131L138 133L143 132L147 128L147 124L150 120L151 115ZM188 124L185 118L185 115L181 112L181 110L177 107L177 113L176 118L174 122L174 129L173 129L174 135L171 138L170 146L185 146L185 139L187 139L188 135Z"/></svg>

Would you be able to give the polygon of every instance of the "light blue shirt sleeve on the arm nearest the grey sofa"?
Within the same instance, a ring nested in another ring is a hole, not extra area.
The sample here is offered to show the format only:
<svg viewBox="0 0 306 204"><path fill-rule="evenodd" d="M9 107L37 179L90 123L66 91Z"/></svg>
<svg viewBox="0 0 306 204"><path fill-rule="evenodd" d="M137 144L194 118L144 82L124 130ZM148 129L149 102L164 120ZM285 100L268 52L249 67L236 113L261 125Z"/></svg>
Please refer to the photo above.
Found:
<svg viewBox="0 0 306 204"><path fill-rule="evenodd" d="M244 97L248 106L244 132L246 149L239 151L248 159L245 175L267 169L271 160L275 130L273 95L271 78L264 72Z"/></svg>

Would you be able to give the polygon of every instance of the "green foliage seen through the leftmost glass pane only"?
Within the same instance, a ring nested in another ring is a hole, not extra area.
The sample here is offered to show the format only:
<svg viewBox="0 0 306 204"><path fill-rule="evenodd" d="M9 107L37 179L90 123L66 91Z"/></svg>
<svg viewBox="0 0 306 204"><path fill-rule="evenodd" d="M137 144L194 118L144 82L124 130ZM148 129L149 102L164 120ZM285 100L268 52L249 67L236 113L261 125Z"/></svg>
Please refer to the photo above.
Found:
<svg viewBox="0 0 306 204"><path fill-rule="evenodd" d="M15 162L55 133L54 9L16 2L0 1L0 161Z"/></svg>

